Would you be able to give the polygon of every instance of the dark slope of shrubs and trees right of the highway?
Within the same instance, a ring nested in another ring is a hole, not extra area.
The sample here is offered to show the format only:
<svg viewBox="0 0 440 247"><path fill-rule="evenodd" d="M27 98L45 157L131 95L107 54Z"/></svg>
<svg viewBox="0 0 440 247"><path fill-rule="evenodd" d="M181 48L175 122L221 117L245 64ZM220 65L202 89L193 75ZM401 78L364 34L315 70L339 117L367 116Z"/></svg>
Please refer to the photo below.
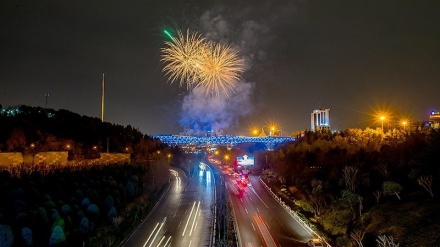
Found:
<svg viewBox="0 0 440 247"><path fill-rule="evenodd" d="M439 130L349 129L266 155L279 194L336 246L440 246L439 154Z"/></svg>

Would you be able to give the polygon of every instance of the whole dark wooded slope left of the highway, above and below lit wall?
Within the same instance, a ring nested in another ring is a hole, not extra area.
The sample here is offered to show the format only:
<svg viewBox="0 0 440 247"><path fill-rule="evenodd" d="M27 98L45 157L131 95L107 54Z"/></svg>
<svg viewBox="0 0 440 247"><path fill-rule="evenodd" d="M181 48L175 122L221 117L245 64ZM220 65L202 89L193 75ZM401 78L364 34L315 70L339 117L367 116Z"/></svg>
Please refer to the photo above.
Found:
<svg viewBox="0 0 440 247"><path fill-rule="evenodd" d="M0 246L117 246L169 183L190 169L178 148L131 126L66 110L2 108L1 152L68 151L69 165L0 167ZM132 163L85 165L106 151Z"/></svg>

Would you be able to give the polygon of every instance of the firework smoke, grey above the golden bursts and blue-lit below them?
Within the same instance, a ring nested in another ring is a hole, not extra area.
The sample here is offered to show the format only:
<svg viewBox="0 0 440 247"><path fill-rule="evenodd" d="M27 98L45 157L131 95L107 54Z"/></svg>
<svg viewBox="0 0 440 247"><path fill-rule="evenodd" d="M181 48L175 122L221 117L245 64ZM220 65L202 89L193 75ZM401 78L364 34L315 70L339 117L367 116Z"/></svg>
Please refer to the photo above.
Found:
<svg viewBox="0 0 440 247"><path fill-rule="evenodd" d="M200 17L200 33L210 41L230 45L239 51L244 61L244 70L252 69L255 60L264 59L265 52L257 49L258 37L268 31L264 25L245 20L231 25L220 13L205 12ZM184 135L222 135L224 130L236 126L241 117L253 111L252 95L255 83L236 82L229 97L223 94L207 97L201 88L196 88L183 99L180 125Z"/></svg>

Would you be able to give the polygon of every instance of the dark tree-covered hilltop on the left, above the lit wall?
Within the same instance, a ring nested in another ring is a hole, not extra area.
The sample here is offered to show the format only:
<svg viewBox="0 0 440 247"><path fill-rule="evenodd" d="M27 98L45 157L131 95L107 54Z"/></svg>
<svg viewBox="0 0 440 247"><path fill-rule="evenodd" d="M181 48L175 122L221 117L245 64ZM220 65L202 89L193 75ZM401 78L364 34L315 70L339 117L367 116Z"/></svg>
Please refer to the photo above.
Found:
<svg viewBox="0 0 440 247"><path fill-rule="evenodd" d="M69 151L69 159L96 158L99 152L129 152L135 161L164 147L132 126L101 122L67 110L19 106L0 112L0 151Z"/></svg>

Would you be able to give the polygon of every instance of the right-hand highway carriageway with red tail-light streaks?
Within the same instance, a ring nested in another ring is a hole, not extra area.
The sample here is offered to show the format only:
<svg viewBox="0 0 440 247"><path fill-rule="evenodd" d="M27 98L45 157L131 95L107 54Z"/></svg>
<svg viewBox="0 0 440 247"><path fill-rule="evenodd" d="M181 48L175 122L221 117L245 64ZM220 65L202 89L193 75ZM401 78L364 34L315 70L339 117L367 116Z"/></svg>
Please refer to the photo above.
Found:
<svg viewBox="0 0 440 247"><path fill-rule="evenodd" d="M241 191L233 176L227 177L241 246L308 246L306 242L316 237L284 210L258 176L250 176L250 185Z"/></svg>

